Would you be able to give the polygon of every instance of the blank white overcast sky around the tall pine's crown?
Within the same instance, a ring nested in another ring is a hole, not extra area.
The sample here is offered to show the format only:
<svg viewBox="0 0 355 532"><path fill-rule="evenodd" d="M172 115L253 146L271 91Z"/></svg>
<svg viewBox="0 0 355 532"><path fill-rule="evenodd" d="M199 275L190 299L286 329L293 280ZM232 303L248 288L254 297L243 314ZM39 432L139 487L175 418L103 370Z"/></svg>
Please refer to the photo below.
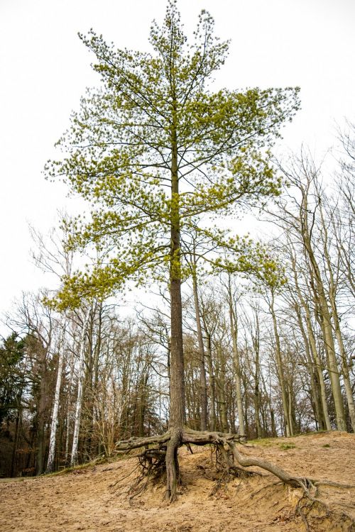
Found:
<svg viewBox="0 0 355 532"><path fill-rule="evenodd" d="M58 209L75 211L65 187L45 182L43 165L69 125L94 57L77 32L94 28L119 48L147 49L165 0L0 0L0 314L23 290L48 284L29 256L28 223L46 233ZM355 121L354 0L178 0L187 33L201 9L231 38L219 84L301 87L302 109L284 145L316 155L334 143L335 123ZM74 202L74 203L73 203Z"/></svg>

